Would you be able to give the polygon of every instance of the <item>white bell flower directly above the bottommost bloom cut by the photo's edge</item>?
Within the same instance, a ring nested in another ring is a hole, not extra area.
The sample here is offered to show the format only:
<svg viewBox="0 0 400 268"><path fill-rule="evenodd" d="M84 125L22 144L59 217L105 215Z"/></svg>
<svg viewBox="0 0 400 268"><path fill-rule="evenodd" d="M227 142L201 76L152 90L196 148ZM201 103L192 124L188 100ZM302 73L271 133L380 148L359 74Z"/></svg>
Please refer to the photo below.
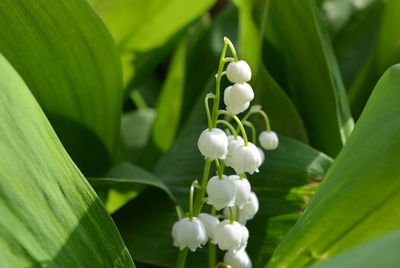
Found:
<svg viewBox="0 0 400 268"><path fill-rule="evenodd" d="M218 244L221 250L236 250L242 245L243 228L240 223L229 220L220 222L215 227L213 243Z"/></svg>

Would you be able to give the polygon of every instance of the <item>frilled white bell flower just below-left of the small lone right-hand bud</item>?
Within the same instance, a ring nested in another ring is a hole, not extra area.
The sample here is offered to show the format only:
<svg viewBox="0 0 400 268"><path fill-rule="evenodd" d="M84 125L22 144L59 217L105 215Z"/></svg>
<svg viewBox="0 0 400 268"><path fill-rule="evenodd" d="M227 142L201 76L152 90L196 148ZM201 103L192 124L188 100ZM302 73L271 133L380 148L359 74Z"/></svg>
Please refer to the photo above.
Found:
<svg viewBox="0 0 400 268"><path fill-rule="evenodd" d="M232 152L232 168L237 174L258 172L261 165L261 155L257 146L249 142L246 145L236 146Z"/></svg>

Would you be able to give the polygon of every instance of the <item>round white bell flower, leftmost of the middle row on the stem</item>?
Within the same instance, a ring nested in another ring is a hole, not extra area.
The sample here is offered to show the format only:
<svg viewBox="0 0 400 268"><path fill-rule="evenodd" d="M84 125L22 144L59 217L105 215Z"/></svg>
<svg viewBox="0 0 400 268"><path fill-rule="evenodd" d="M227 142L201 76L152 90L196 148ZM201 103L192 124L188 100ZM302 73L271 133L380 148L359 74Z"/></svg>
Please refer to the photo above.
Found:
<svg viewBox="0 0 400 268"><path fill-rule="evenodd" d="M228 138L219 128L213 128L211 131L205 129L199 137L197 146L201 154L210 160L225 159L228 154Z"/></svg>

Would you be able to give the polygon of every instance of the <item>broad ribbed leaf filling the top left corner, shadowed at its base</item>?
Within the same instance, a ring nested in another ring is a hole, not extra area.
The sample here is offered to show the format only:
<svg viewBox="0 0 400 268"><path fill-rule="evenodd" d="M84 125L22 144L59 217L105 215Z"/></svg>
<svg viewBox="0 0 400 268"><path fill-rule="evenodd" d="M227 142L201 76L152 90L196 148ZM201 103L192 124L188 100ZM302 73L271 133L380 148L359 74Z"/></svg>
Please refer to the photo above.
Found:
<svg viewBox="0 0 400 268"><path fill-rule="evenodd" d="M0 52L14 66L86 175L110 165L121 71L104 24L84 0L0 2Z"/></svg>

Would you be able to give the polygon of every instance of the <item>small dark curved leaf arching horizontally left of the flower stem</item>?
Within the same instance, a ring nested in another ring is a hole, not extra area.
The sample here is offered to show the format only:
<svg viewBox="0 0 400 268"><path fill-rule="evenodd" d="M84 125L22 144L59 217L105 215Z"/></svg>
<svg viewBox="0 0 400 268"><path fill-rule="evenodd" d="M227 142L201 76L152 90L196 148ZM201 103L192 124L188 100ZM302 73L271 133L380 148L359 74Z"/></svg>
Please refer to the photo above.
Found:
<svg viewBox="0 0 400 268"><path fill-rule="evenodd" d="M89 178L89 182L97 189L109 189L111 187L129 189L130 187L135 188L138 184L154 186L163 190L172 201L175 201L174 195L162 180L131 163L118 164L107 173L105 178Z"/></svg>

